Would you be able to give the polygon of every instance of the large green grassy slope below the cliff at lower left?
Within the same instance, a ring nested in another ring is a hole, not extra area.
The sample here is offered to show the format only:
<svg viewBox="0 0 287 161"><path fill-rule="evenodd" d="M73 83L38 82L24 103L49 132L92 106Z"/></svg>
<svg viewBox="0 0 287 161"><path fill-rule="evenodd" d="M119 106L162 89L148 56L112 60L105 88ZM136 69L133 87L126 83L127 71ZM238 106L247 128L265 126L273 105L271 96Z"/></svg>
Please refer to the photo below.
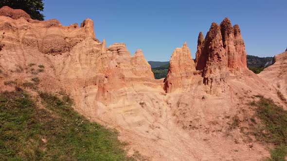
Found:
<svg viewBox="0 0 287 161"><path fill-rule="evenodd" d="M1 161L123 161L117 132L91 123L72 99L39 92L38 108L25 92L0 93Z"/></svg>

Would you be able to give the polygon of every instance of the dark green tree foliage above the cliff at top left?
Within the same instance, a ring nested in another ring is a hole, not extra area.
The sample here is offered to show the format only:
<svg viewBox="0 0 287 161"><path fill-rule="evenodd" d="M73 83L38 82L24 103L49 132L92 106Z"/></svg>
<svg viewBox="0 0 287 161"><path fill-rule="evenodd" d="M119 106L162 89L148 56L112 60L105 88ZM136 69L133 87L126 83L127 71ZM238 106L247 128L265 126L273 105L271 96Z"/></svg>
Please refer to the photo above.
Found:
<svg viewBox="0 0 287 161"><path fill-rule="evenodd" d="M44 15L40 13L44 9L43 0L0 0L0 8L9 6L13 9L22 9L31 16L32 19L44 20Z"/></svg>

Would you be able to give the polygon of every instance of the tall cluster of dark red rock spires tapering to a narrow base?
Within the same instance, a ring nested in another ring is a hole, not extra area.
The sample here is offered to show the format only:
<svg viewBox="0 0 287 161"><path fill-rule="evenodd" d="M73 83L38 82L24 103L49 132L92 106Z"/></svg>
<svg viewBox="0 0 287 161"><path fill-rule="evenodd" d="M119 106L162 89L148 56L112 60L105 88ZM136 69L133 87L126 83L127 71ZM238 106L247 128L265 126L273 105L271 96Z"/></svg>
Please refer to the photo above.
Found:
<svg viewBox="0 0 287 161"><path fill-rule="evenodd" d="M219 84L225 82L229 72L236 74L247 68L245 45L238 25L232 27L225 18L220 25L212 23L204 40L200 32L195 62L196 69L202 70L203 82L216 88L211 93L221 91Z"/></svg>

